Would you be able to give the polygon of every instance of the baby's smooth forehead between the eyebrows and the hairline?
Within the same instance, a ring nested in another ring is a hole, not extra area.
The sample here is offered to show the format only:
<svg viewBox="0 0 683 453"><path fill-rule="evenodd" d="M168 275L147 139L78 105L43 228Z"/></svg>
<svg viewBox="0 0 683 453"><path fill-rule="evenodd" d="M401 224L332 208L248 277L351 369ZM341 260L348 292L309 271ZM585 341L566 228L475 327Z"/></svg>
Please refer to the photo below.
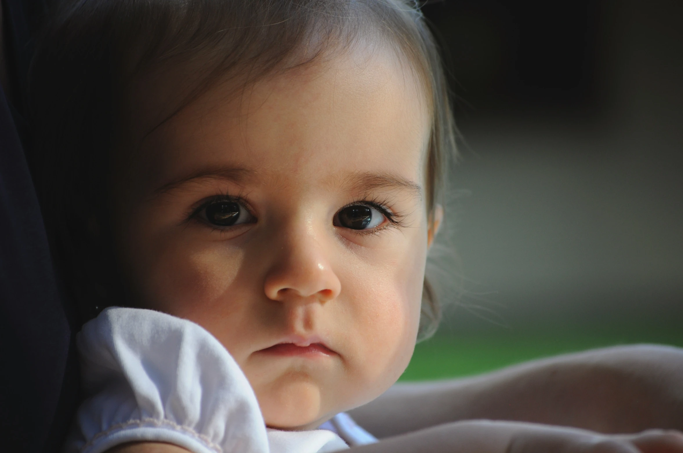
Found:
<svg viewBox="0 0 683 453"><path fill-rule="evenodd" d="M217 85L145 134L141 125L166 114L183 77L150 79L135 93L145 190L230 167L283 186L333 184L351 173L422 184L428 104L410 65L390 50L352 50L264 78L238 96L234 85Z"/></svg>

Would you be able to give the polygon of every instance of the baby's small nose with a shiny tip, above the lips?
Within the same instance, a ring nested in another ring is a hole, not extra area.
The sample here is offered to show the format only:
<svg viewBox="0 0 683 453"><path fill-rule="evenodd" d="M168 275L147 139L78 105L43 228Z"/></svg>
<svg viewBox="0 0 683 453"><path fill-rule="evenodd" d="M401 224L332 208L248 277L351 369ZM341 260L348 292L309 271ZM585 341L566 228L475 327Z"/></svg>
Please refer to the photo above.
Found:
<svg viewBox="0 0 683 453"><path fill-rule="evenodd" d="M311 231L281 236L279 251L266 274L266 297L280 302L317 299L327 302L342 291L329 254Z"/></svg>

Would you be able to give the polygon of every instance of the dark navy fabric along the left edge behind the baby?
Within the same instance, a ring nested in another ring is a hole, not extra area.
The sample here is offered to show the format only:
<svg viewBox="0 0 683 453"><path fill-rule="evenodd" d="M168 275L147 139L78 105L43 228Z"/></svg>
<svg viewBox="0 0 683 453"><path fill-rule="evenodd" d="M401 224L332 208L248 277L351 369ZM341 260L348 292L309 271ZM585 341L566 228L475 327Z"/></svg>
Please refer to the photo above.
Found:
<svg viewBox="0 0 683 453"><path fill-rule="evenodd" d="M56 453L79 381L75 323L59 294L17 128L30 58L27 3L3 1L16 105L0 87L0 445L7 451Z"/></svg>

